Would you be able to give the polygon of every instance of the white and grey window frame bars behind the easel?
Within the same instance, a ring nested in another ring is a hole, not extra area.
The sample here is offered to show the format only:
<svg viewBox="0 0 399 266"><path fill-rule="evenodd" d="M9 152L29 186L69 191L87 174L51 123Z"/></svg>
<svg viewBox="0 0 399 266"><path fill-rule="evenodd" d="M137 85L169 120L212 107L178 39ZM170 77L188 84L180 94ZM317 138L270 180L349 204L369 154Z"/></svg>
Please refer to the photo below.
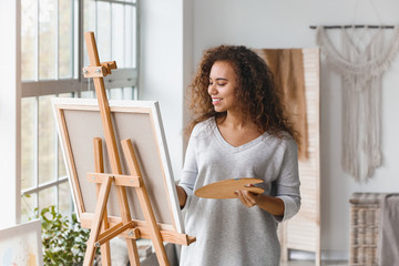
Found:
<svg viewBox="0 0 399 266"><path fill-rule="evenodd" d="M57 1L57 0L55 0ZM132 4L135 6L135 18L136 18L136 22L135 22L135 32L136 32L136 42L135 42L135 65L136 68L123 68L123 69L117 69L117 70L113 70L112 71L112 75L109 75L104 79L104 83L105 83L105 89L113 89L113 88L135 88L134 93L133 93L133 98L137 99L137 85L139 85L139 39L140 39L140 32L139 32L139 0L136 0L134 3L133 2L124 2L124 1L116 1L116 0L94 0L95 4L98 2L109 2L111 8L110 11L112 13L112 3L119 3L119 4ZM17 2L20 3L20 0L18 0ZM58 2L58 1L57 1ZM37 35L35 35L35 51L37 51L37 73L35 73L35 81L23 81L20 82L21 84L21 93L20 93L20 100L19 102L22 100L22 98L35 98L35 117L38 117L39 115L39 108L38 108L38 103L39 103L39 96L43 96L43 95L58 95L61 93L74 93L76 96L80 96L82 91L86 91L88 86L92 86L92 81L89 81L88 79L84 79L82 76L82 74L80 73L79 70L81 70L83 66L83 49L85 49L84 45L84 41L83 39L83 0L74 0L74 11L73 12L78 12L75 16L78 19L75 21L75 27L74 27L74 31L78 31L78 40L73 40L73 42L76 42L75 45L73 47L78 47L78 52L73 51L74 54L74 62L78 61L76 68L73 66L73 73L72 73L72 79L59 79L57 78L55 80L39 80L39 30L37 30ZM39 1L38 1L38 6L39 6ZM39 10L39 7L38 7ZM38 11L39 12L39 11ZM20 10L19 10L20 13ZM39 14L38 14L39 18ZM20 24L21 24L21 17L19 16L19 30L17 30L17 32L20 32ZM133 23L133 21L132 21ZM37 29L39 29L39 25L37 25ZM57 27L57 31L58 31L58 27ZM96 29L95 29L96 31ZM94 33L96 33L94 31ZM58 32L55 33L55 35L58 35ZM75 35L75 34L73 34ZM111 27L111 35L112 35L112 27ZM17 39L19 42L21 42L21 34L17 34ZM58 50L59 50L59 43L58 41L55 41L55 73L58 76ZM19 57L21 57L21 50L19 48L19 51L17 51L17 53L19 53ZM72 62L72 65L75 65L75 63ZM116 62L117 64L117 62ZM20 75L20 73L18 73ZM90 83L89 83L90 82ZM18 124L21 122L21 117L20 115L17 117ZM38 134L38 119L35 120L35 154L38 153L38 142L39 142L39 134ZM21 134L21 129L19 129L19 135ZM54 143L54 149L55 149L55 171L54 173L58 173L58 136L55 137L55 143ZM20 149L20 147L19 147ZM34 185L31 188L28 190L23 190L21 191L21 171L18 168L18 171L20 172L17 175L17 191L19 193L17 193L16 195L16 216L17 216L17 221L20 221L21 217L21 196L23 195L29 195L29 194L38 194L38 196L35 197L35 205L39 206L39 192L47 190L49 187L57 187L55 190L55 198L57 202L54 203L55 206L59 205L59 196L58 196L58 192L59 188L58 186L62 183L68 182L68 176L55 176L57 178L54 178L51 182L44 183L44 184L39 184L39 162L38 162L38 155L34 157L35 162L35 170L34 170ZM19 161L19 165L21 164L21 154L19 154L17 161ZM20 166L17 166L20 167ZM1 200L1 198L0 198Z"/></svg>

